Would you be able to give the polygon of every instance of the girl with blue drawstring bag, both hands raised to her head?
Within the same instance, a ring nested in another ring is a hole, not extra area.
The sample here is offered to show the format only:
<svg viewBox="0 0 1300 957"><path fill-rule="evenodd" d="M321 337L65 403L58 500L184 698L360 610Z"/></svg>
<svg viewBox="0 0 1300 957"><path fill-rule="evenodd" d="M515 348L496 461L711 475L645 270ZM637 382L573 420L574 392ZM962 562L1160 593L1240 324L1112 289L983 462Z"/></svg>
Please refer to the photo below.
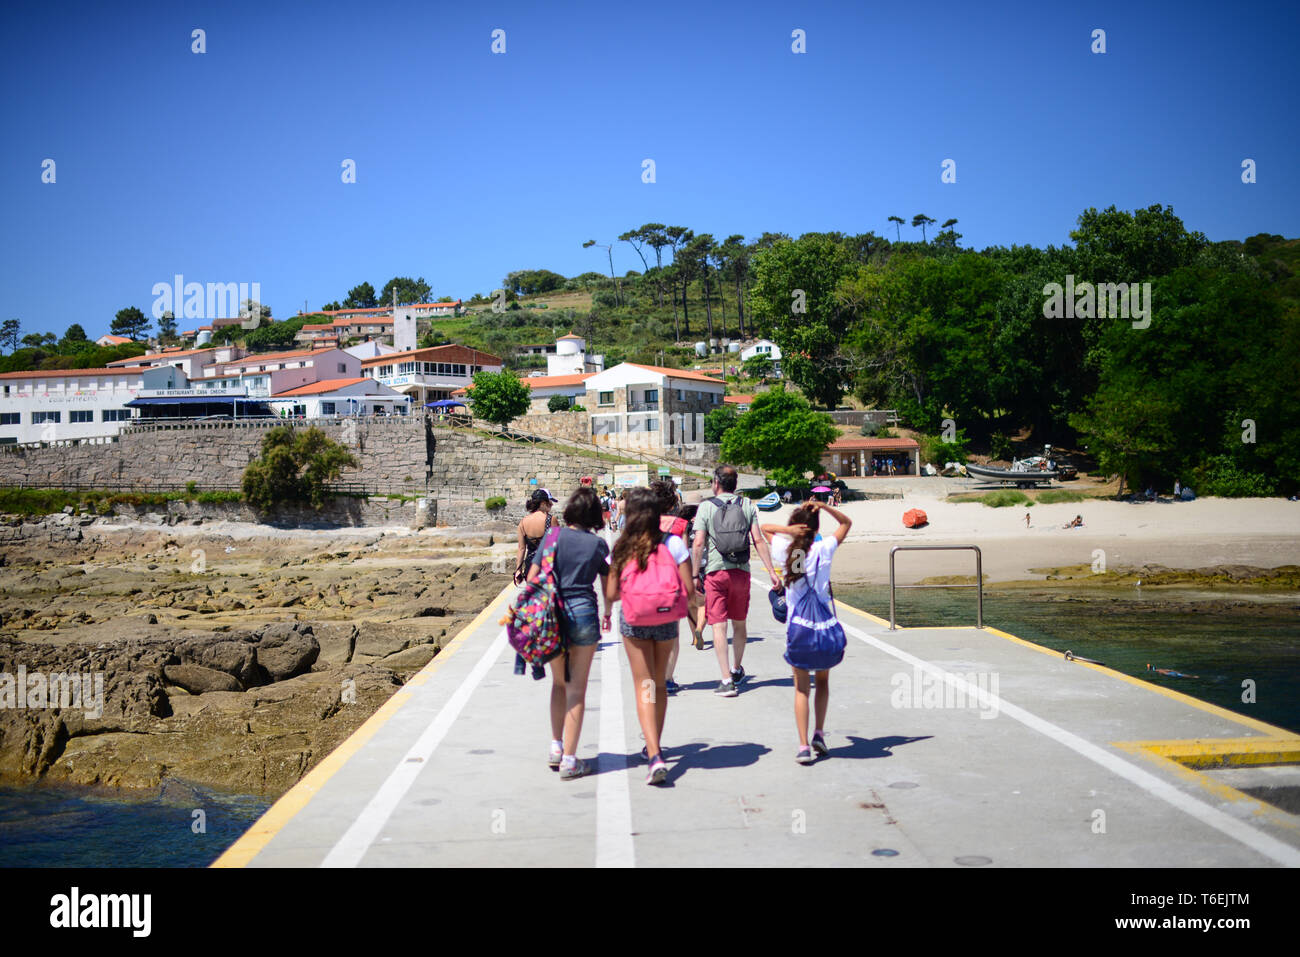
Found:
<svg viewBox="0 0 1300 957"><path fill-rule="evenodd" d="M789 609L789 620L785 625L786 651L785 661L794 672L794 726L800 735L800 748L794 753L794 759L801 765L811 765L818 755L826 757L829 749L826 745L826 714L831 705L831 670L809 668L809 662L802 657L802 651L796 646L793 638L797 627L814 628L829 623L838 627L835 620L835 605L831 597L831 559L836 549L844 545L845 537L853 523L835 506L822 502L810 502L806 506L811 516L792 515L792 524L785 527L764 525L774 534L790 537L790 544L785 554L785 603ZM835 534L814 541L819 525L819 512L827 512L838 525ZM803 518L807 524L796 524L797 518ZM820 603L828 614L816 619L809 618L811 603ZM842 636L842 628L841 628ZM841 653L842 654L842 653ZM800 667L803 664L805 667ZM816 698L814 713L816 724L812 731L811 745L809 742L809 685L811 675L816 674Z"/></svg>

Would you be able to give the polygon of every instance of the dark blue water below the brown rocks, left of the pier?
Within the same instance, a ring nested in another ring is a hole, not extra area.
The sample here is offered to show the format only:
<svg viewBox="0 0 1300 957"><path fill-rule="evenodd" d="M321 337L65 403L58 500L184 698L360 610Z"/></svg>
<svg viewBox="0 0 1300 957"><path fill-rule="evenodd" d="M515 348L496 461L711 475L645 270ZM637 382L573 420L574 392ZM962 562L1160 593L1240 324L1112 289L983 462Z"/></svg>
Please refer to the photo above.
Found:
<svg viewBox="0 0 1300 957"><path fill-rule="evenodd" d="M0 867L205 867L268 806L260 797L183 785L138 800L0 788Z"/></svg>

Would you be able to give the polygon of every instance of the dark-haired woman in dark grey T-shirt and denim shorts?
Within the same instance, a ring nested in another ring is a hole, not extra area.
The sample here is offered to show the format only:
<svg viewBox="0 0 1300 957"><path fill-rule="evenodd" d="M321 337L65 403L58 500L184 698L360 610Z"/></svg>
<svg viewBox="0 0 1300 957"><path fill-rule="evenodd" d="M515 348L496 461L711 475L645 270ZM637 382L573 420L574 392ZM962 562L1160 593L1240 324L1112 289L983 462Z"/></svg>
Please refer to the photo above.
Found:
<svg viewBox="0 0 1300 957"><path fill-rule="evenodd" d="M576 755L586 711L586 679L601 638L593 583L610 571L610 546L597 534L602 527L601 499L595 489L577 489L564 503L564 528L555 546L564 654L551 662L551 748L546 763L558 767L563 780L581 778L590 771ZM534 553L528 580L536 581L537 575L538 557ZM604 596L603 583L601 594ZM606 601L606 629L608 619L610 602Z"/></svg>

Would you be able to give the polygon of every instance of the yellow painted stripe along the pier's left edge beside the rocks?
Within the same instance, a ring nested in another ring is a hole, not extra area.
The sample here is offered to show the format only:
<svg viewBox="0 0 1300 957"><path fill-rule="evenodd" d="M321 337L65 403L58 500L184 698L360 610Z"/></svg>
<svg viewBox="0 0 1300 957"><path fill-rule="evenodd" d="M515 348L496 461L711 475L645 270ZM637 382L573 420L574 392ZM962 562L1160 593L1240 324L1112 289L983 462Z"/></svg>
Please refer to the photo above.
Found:
<svg viewBox="0 0 1300 957"><path fill-rule="evenodd" d="M270 839L280 833L281 828L287 824L295 814L298 814L308 802L320 793L325 783L338 772L348 759L356 754L361 746L374 737L374 733L387 723L387 720L398 713L398 710L411 698L412 687L422 685L428 681L433 674L441 668L447 658L455 654L460 648L464 646L468 637L486 620L489 620L497 609L506 599L508 594L514 592L511 585L506 585L495 598L493 598L488 607L474 616L474 620L467 624L460 632L452 638L447 645L438 651L432 662L425 664L420 674L412 677L402 690L396 692L391 698L384 702L378 711L372 714L367 722L354 731L346 741L343 741L338 748L330 752L325 759L313 767L306 778L303 778L298 784L286 791L276 804L273 804L265 814L254 822L244 835L231 844L226 852L212 862L213 867L244 867L252 858L255 858Z"/></svg>

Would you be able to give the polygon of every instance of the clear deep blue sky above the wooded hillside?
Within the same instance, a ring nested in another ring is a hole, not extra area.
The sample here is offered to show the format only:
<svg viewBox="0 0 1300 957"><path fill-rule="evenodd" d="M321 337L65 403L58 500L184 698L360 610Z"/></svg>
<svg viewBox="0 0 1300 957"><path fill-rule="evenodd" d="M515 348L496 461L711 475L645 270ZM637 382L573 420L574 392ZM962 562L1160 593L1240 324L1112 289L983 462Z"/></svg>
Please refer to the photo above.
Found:
<svg viewBox="0 0 1300 957"><path fill-rule="evenodd" d="M514 269L603 270L581 243L650 221L893 235L888 216L924 212L983 248L1165 203L1210 239L1300 234L1295 3L96 0L0 17L0 317L23 333L96 337L176 273L260 282L277 317L393 276L464 298ZM641 263L619 244L615 267Z"/></svg>

